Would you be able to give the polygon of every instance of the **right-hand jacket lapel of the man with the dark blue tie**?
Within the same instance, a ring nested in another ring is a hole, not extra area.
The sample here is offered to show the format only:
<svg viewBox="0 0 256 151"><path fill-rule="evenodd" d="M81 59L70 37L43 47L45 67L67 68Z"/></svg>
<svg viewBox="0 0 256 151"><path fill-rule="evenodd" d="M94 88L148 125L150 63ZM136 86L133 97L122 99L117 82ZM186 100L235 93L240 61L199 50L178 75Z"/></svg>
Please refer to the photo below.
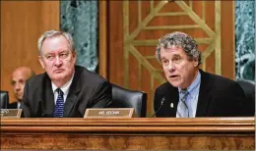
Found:
<svg viewBox="0 0 256 151"><path fill-rule="evenodd" d="M81 89L81 80L80 76L83 72L83 69L75 67L75 75L73 77L72 83L69 88L69 93L64 104L64 113L63 117L70 117L70 112L72 111L74 105L77 103L78 94Z"/></svg>

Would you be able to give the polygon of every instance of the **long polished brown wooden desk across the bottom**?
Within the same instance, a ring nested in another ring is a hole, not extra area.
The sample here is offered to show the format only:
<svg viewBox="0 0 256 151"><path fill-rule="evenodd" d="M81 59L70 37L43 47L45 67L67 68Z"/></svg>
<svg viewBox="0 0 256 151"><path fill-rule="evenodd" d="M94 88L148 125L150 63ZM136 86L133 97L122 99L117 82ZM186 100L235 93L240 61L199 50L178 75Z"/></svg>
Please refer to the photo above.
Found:
<svg viewBox="0 0 256 151"><path fill-rule="evenodd" d="M1 148L255 150L254 122L254 118L1 119Z"/></svg>

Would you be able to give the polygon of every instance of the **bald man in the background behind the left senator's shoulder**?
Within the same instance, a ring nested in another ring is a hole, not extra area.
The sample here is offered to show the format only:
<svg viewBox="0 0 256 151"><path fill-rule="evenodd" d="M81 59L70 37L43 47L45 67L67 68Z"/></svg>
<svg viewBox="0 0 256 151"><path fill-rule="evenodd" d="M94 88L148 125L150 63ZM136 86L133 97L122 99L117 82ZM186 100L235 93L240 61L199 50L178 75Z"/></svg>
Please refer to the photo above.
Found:
<svg viewBox="0 0 256 151"><path fill-rule="evenodd" d="M34 76L34 72L29 67L19 67L13 74L11 84L15 95L16 102L8 104L8 109L19 109L24 95L24 86L27 79Z"/></svg>

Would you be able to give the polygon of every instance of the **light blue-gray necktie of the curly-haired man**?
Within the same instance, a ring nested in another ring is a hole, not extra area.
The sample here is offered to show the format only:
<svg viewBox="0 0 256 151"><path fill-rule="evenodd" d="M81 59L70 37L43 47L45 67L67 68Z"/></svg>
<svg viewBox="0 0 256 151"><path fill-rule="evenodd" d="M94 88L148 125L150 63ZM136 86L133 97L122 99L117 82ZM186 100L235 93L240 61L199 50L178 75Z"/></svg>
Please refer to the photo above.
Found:
<svg viewBox="0 0 256 151"><path fill-rule="evenodd" d="M178 101L178 107L177 107L177 118L189 118L189 112L188 112L188 106L186 104L186 98L188 95L187 90L181 90L180 91L180 100Z"/></svg>

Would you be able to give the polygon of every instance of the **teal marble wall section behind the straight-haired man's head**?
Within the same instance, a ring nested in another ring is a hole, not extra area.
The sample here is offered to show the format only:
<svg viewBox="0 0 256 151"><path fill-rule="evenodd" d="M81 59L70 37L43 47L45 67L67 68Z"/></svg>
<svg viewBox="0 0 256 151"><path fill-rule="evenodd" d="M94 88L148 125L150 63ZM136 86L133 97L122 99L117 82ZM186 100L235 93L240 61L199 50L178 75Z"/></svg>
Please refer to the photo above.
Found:
<svg viewBox="0 0 256 151"><path fill-rule="evenodd" d="M60 1L61 29L70 32L75 40L77 65L96 72L97 1Z"/></svg>

